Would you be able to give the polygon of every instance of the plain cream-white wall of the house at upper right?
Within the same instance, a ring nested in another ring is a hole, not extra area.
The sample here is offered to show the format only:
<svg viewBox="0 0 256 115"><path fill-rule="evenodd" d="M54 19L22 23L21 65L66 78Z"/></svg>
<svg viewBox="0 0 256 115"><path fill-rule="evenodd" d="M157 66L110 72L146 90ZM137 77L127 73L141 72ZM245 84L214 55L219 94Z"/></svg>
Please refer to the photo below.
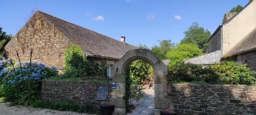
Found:
<svg viewBox="0 0 256 115"><path fill-rule="evenodd" d="M236 17L223 24L223 57L234 45L256 28L256 1L254 0Z"/></svg>

